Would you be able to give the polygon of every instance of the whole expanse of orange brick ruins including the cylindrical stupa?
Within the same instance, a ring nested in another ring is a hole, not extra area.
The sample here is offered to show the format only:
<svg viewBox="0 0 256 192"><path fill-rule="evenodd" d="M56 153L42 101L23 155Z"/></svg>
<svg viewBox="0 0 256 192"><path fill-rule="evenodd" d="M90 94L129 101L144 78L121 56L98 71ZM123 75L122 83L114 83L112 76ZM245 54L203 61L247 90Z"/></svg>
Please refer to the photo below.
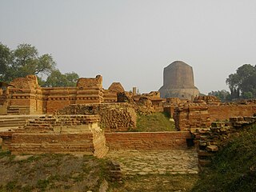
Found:
<svg viewBox="0 0 256 192"><path fill-rule="evenodd" d="M154 112L174 118L177 131L129 132L136 130L138 114ZM149 94L127 92L120 82L105 90L100 75L79 78L75 87L41 87L34 75L16 78L0 90L0 114L0 142L13 154L102 158L108 150L184 149L195 143L204 166L218 149L204 134L227 134L238 125L255 123L256 101L222 103L199 96L192 67L173 62L164 70L159 92Z"/></svg>

